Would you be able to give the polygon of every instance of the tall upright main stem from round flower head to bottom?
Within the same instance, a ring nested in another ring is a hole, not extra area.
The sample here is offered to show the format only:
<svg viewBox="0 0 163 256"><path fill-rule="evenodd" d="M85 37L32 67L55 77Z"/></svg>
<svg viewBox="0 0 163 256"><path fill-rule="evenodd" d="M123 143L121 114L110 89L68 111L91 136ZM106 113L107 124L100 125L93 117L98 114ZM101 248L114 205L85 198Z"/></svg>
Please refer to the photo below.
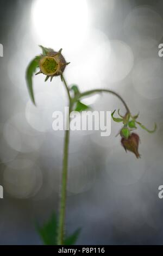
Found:
<svg viewBox="0 0 163 256"><path fill-rule="evenodd" d="M63 156L63 165L62 165L62 178L61 178L61 195L60 195L60 210L59 210L59 225L58 225L58 245L64 245L64 227L65 227L65 214L66 214L66 189L67 189L67 169L68 169L68 145L70 138L70 113L72 109L71 104L71 96L65 81L65 78L62 76L62 81L64 82L68 99L69 99L69 113L67 117L67 130L65 131L65 139L64 139L64 156Z"/></svg>

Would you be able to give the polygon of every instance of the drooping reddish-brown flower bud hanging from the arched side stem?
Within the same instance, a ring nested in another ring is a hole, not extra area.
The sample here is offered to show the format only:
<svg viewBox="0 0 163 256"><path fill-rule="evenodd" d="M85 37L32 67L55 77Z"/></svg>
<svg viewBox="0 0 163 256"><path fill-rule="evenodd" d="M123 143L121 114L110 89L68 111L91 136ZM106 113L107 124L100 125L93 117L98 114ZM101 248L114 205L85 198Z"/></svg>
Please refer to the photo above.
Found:
<svg viewBox="0 0 163 256"><path fill-rule="evenodd" d="M126 138L122 138L121 139L121 143L123 148L127 151L131 151L135 154L135 156L138 158L140 158L140 154L138 152L138 147L139 147L139 136L136 133L131 133L131 135L128 137L128 139Z"/></svg>

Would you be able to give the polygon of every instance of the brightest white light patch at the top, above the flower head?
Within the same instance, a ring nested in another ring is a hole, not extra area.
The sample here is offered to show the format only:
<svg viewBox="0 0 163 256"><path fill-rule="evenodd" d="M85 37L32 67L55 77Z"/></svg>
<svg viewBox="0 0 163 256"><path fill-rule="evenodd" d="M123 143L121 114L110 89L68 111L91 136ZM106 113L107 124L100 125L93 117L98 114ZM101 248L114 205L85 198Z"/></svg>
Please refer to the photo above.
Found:
<svg viewBox="0 0 163 256"><path fill-rule="evenodd" d="M86 0L36 0L32 5L32 19L40 44L70 51L78 48L85 38L87 3Z"/></svg>

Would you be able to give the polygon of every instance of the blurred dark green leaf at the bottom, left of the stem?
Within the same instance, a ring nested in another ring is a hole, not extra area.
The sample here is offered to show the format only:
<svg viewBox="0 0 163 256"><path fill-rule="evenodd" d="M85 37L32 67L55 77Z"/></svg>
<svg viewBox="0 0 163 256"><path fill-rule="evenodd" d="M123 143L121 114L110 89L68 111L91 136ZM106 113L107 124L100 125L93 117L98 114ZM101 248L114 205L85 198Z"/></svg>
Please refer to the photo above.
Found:
<svg viewBox="0 0 163 256"><path fill-rule="evenodd" d="M57 216L52 214L51 218L43 225L39 227L37 225L37 231L44 243L44 245L57 245Z"/></svg>

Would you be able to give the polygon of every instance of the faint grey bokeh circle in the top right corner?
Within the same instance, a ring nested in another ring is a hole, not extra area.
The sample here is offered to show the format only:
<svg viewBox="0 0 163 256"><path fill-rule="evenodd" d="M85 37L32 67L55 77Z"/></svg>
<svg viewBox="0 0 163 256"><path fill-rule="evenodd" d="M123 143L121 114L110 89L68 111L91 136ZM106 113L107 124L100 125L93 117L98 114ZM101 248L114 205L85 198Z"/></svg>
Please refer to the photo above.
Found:
<svg viewBox="0 0 163 256"><path fill-rule="evenodd" d="M137 7L126 17L124 33L133 45L152 48L162 38L163 20L152 8Z"/></svg>

